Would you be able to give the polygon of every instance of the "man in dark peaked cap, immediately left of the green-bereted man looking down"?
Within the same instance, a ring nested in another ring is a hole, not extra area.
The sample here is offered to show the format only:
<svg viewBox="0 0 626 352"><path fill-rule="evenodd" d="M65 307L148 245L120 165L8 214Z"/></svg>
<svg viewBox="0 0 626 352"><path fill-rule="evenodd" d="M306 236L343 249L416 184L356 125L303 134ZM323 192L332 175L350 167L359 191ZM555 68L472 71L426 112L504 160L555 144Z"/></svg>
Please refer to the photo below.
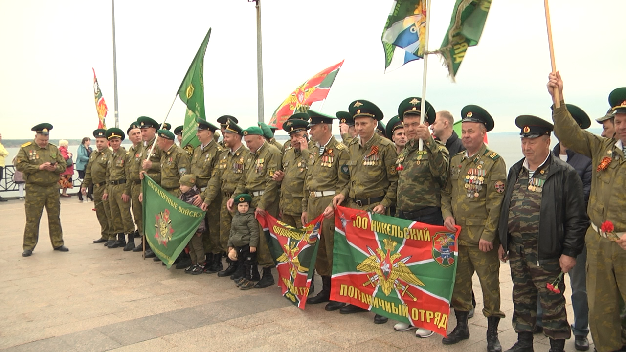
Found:
<svg viewBox="0 0 626 352"><path fill-rule="evenodd" d="M242 143L244 133L232 120L226 124L224 130L225 150L218 156L217 167L213 167L211 178L208 180L207 189L200 196L202 197L202 210L217 209L220 217L220 248L228 251L228 236L230 236L230 224L233 214L228 211L227 202L232 197L239 180L245 175L245 161L249 158L250 150ZM220 201L221 200L221 201ZM217 276L230 276L231 279L239 279L240 275L235 275L242 262L226 259L228 267L224 271L217 273ZM220 256L220 264L222 259ZM238 272L241 274L240 272Z"/></svg>

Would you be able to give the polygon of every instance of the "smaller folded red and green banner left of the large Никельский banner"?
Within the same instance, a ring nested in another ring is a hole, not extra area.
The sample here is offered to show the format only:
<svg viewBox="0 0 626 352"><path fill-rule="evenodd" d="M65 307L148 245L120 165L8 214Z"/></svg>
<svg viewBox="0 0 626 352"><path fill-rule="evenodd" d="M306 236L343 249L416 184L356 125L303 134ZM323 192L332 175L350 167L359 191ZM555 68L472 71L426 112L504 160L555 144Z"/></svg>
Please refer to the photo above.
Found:
<svg viewBox="0 0 626 352"><path fill-rule="evenodd" d="M313 278L319 231L324 215L320 214L299 229L280 222L269 214L257 219L267 237L272 257L277 262L282 296L298 308L304 309Z"/></svg>

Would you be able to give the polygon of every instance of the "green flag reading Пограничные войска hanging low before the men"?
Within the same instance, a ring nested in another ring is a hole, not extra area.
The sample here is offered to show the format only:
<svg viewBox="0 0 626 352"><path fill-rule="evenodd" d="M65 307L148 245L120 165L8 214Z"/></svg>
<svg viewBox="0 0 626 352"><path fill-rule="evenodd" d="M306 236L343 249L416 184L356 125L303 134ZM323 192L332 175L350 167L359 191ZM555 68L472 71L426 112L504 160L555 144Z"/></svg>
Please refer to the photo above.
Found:
<svg viewBox="0 0 626 352"><path fill-rule="evenodd" d="M169 194L148 175L141 182L141 192L143 233L152 251L170 269L206 212Z"/></svg>

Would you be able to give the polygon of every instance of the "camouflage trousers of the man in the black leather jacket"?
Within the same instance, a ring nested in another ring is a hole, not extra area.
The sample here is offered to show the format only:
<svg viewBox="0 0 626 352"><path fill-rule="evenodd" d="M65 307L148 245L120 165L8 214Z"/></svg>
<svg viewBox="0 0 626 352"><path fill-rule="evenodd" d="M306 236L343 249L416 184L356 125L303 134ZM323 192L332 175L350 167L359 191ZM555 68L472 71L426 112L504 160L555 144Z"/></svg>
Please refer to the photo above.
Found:
<svg viewBox="0 0 626 352"><path fill-rule="evenodd" d="M513 328L517 333L535 329L537 299L543 309L543 334L553 339L572 336L565 311L565 280L558 284L560 293L549 291L546 284L561 273L558 258L538 260L537 252L511 244L509 247L513 279ZM539 266L537 266L537 263ZM595 340L594 340L595 341Z"/></svg>

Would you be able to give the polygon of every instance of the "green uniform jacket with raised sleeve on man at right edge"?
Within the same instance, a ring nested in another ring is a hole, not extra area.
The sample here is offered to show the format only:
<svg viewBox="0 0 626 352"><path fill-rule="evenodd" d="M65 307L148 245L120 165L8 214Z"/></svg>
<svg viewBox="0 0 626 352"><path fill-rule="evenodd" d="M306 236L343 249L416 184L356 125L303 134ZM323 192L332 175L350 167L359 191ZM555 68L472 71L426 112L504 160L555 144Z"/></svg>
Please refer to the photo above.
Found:
<svg viewBox="0 0 626 352"><path fill-rule="evenodd" d="M593 175L591 193L587 205L589 219L598 228L609 220L615 232L626 231L626 155L622 152L622 141L603 138L582 130L561 101L554 108L554 134L558 140L574 152L592 159ZM611 158L605 170L597 170L603 158Z"/></svg>

